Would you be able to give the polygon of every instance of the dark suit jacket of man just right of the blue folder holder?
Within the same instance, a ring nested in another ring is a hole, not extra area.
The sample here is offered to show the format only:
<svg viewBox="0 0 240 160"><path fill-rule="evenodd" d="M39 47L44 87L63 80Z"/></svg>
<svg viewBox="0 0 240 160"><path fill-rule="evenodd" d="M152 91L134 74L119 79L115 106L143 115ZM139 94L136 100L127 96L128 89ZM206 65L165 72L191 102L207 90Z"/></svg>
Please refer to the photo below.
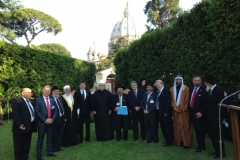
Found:
<svg viewBox="0 0 240 160"><path fill-rule="evenodd" d="M137 98L133 90L128 92L128 104L132 110L135 110L136 106L140 107L140 102L142 100L142 96L145 93L144 90L138 88L137 89Z"/></svg>

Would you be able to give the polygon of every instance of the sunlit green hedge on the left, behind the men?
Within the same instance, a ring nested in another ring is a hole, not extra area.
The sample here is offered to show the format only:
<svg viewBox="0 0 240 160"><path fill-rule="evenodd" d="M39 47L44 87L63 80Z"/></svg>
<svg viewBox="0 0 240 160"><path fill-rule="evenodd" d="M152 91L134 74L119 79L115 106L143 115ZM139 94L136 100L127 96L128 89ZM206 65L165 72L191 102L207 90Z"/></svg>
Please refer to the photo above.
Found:
<svg viewBox="0 0 240 160"><path fill-rule="evenodd" d="M33 97L37 97L47 84L60 88L68 84L77 89L84 80L91 88L95 70L93 63L80 59L0 41L0 97L3 98L15 98L13 93L20 93L23 87L31 88Z"/></svg>

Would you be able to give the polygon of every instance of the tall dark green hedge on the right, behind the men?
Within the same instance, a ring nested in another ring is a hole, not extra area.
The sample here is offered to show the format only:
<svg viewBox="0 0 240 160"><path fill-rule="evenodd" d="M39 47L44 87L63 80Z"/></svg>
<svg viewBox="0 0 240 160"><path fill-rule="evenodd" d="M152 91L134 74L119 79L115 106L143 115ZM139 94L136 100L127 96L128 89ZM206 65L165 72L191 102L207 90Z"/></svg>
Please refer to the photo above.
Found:
<svg viewBox="0 0 240 160"><path fill-rule="evenodd" d="M161 78L167 87L180 74L185 84L192 76L215 75L229 92L240 88L240 1L203 0L179 15L172 27L146 33L114 60L117 80Z"/></svg>

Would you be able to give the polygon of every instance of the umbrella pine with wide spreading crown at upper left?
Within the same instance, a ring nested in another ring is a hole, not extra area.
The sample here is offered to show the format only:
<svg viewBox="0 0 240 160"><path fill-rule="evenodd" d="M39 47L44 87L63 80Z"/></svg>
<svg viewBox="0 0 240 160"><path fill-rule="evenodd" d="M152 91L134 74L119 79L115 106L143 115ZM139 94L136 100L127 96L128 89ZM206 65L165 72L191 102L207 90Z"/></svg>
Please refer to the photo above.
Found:
<svg viewBox="0 0 240 160"><path fill-rule="evenodd" d="M11 29L18 37L24 36L31 47L34 38L41 32L57 35L62 31L61 24L52 16L31 8L21 8L16 12L1 11L3 20L0 24Z"/></svg>

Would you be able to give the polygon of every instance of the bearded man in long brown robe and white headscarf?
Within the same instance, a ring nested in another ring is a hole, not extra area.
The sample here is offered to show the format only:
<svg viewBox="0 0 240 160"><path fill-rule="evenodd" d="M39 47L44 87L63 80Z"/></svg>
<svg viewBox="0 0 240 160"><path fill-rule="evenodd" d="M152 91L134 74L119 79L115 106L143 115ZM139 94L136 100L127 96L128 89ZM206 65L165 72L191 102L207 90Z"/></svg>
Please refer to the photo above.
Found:
<svg viewBox="0 0 240 160"><path fill-rule="evenodd" d="M174 141L177 146L192 146L192 127L189 120L189 88L184 85L183 78L176 76L174 86L170 89L173 107Z"/></svg>

